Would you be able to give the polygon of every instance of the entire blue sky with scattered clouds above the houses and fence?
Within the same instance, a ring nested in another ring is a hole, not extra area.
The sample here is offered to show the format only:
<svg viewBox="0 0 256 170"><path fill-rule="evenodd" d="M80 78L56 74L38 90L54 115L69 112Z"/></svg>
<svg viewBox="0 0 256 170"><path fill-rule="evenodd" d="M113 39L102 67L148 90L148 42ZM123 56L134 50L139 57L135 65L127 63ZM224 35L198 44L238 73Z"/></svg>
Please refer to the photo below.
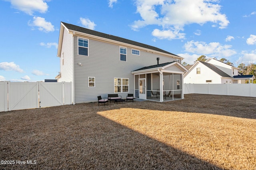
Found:
<svg viewBox="0 0 256 170"><path fill-rule="evenodd" d="M255 0L0 0L0 81L54 79L60 22L237 66L256 62ZM143 61L142 61L143 62Z"/></svg>

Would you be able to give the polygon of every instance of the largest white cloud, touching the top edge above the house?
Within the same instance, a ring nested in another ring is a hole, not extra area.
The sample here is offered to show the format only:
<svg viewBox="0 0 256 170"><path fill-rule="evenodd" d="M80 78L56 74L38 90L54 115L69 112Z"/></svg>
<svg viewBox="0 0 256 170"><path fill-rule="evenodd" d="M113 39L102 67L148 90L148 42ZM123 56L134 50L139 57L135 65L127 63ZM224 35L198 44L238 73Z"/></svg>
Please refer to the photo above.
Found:
<svg viewBox="0 0 256 170"><path fill-rule="evenodd" d="M147 25L162 26L163 31L183 30L185 25L211 22L220 29L229 21L220 13L216 0L136 0L137 13L141 20L134 21L132 29L137 31ZM168 37L169 38L169 37Z"/></svg>

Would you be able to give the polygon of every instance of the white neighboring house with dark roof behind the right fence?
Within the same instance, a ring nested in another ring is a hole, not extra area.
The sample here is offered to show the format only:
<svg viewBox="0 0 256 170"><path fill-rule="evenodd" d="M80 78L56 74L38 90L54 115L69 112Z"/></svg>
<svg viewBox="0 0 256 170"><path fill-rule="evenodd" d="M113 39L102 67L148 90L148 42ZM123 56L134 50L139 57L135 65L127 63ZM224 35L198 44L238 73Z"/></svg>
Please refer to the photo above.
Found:
<svg viewBox="0 0 256 170"><path fill-rule="evenodd" d="M254 75L240 75L238 68L212 58L205 62L196 61L188 70L184 74L184 83L187 84L241 84L255 79Z"/></svg>

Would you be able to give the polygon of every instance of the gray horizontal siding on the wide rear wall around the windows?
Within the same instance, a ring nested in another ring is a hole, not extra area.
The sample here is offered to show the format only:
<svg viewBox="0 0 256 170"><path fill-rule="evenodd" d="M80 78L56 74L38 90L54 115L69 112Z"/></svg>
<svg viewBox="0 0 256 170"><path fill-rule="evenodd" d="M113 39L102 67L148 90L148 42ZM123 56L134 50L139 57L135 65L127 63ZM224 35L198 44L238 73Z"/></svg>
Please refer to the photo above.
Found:
<svg viewBox="0 0 256 170"><path fill-rule="evenodd" d="M86 38L86 37L83 37ZM132 55L132 48L89 39L88 55L78 55L77 37L74 37L74 95L75 103L97 101L97 96L106 98L114 94L114 78L129 78L129 92L118 93L126 98L134 94L134 75L131 71L144 66L176 61L171 57L140 50L140 56ZM87 38L88 39L88 38ZM120 61L120 46L127 48L127 61ZM133 48L134 49L134 48ZM82 63L82 66L77 63ZM88 77L95 77L95 88L88 87ZM158 88L159 89L159 82Z"/></svg>

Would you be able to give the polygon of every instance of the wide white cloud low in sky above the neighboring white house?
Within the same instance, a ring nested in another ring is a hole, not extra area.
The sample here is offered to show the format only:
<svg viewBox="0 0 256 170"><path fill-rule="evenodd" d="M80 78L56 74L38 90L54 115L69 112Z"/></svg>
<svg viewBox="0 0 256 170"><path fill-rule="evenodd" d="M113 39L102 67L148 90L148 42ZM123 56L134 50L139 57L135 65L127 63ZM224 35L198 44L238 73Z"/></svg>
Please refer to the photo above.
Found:
<svg viewBox="0 0 256 170"><path fill-rule="evenodd" d="M209 55L210 57L230 57L236 54L235 50L230 49L232 45L221 45L217 42L206 44L206 42L188 41L184 47L187 52Z"/></svg>

